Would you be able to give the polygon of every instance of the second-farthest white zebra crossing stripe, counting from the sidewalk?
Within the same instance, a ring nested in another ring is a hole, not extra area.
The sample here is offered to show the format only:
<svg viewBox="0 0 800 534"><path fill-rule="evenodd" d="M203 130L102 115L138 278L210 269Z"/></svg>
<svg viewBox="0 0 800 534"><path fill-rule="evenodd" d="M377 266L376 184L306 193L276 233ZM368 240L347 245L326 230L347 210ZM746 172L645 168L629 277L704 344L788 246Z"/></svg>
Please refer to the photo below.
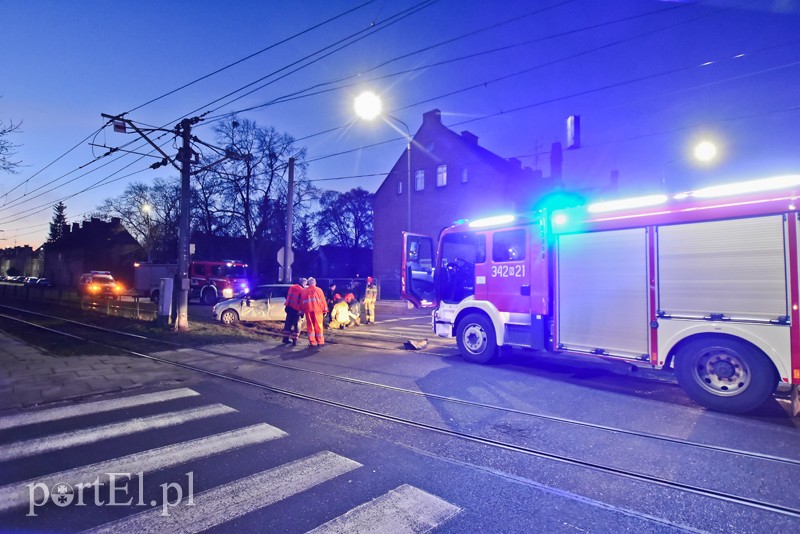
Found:
<svg viewBox="0 0 800 534"><path fill-rule="evenodd" d="M0 447L0 462L7 462L9 460L15 460L17 458L24 458L26 456L33 456L35 454L42 454L50 451L57 451L66 447L75 447L77 445L94 443L102 439L126 436L136 432L144 432L145 430L180 425L183 423L188 423L189 421L195 421L197 419L213 417L215 415L222 415L235 411L236 410L233 408L225 406L224 404L212 404L210 406L203 406L201 408L168 412L150 417L139 417L129 421L123 421L121 423L112 423L110 425L63 432L61 434L54 434L52 436L46 436L43 438L17 441Z"/></svg>

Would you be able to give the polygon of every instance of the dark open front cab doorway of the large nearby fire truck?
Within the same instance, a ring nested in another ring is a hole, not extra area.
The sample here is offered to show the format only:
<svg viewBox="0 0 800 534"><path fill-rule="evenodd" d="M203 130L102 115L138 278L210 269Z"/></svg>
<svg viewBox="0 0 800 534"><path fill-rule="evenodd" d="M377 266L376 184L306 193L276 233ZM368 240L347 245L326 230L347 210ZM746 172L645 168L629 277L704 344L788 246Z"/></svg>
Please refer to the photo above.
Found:
<svg viewBox="0 0 800 534"><path fill-rule="evenodd" d="M486 236L446 234L441 247L440 297L444 302L461 302L475 293L475 264L486 261Z"/></svg>

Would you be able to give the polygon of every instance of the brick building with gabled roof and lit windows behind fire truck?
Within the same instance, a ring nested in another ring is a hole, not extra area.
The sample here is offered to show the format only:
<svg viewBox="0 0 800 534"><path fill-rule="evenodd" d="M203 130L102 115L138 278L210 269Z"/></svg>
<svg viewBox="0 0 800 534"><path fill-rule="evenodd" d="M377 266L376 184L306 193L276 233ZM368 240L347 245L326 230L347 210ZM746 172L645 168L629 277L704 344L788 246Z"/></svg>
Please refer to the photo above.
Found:
<svg viewBox="0 0 800 534"><path fill-rule="evenodd" d="M401 232L438 236L458 219L529 209L548 187L541 173L523 168L442 124L438 109L423 115L411 143L411 191L406 152L375 193L373 275L382 298L400 298Z"/></svg>

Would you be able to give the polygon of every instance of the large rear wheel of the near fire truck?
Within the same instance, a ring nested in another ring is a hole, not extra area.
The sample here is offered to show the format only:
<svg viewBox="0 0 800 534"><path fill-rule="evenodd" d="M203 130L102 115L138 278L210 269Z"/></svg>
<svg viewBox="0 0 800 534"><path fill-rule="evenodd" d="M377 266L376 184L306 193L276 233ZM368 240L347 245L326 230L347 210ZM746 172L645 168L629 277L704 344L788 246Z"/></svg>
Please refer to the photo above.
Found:
<svg viewBox="0 0 800 534"><path fill-rule="evenodd" d="M778 385L775 367L763 352L725 336L687 343L676 355L675 375L694 401L729 413L758 408Z"/></svg>

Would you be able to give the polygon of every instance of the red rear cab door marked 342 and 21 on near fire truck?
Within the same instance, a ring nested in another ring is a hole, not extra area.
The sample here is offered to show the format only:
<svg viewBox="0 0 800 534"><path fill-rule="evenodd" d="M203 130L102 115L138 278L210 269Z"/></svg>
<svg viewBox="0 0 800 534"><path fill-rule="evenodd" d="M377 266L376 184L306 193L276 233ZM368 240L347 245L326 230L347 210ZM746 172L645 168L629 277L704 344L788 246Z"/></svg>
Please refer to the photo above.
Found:
<svg viewBox="0 0 800 534"><path fill-rule="evenodd" d="M488 300L511 323L527 323L531 313L530 230L527 227L497 230L491 234L491 254L486 269ZM477 273L476 273L477 274ZM483 280L476 279L476 285Z"/></svg>

